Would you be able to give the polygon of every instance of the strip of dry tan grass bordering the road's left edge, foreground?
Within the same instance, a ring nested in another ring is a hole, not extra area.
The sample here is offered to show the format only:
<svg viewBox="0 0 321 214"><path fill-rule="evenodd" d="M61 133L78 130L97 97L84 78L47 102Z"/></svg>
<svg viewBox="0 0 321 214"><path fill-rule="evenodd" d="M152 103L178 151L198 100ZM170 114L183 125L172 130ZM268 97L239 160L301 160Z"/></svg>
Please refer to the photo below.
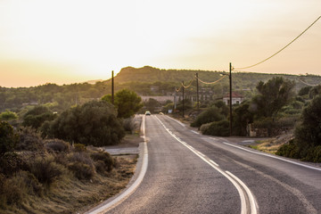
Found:
<svg viewBox="0 0 321 214"><path fill-rule="evenodd" d="M118 157L118 168L106 176L98 173L91 180L78 180L70 172L45 189L42 197L26 195L21 205L0 213L77 213L119 193L128 185L136 167L136 157Z"/></svg>

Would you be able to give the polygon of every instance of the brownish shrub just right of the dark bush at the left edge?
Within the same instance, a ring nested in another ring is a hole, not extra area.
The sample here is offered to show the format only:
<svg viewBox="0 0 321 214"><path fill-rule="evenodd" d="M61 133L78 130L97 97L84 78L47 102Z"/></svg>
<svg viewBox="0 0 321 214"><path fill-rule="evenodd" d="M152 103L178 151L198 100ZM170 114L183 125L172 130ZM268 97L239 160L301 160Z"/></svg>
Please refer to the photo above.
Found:
<svg viewBox="0 0 321 214"><path fill-rule="evenodd" d="M34 128L21 128L18 131L20 140L15 146L16 150L25 151L44 151L43 139Z"/></svg>

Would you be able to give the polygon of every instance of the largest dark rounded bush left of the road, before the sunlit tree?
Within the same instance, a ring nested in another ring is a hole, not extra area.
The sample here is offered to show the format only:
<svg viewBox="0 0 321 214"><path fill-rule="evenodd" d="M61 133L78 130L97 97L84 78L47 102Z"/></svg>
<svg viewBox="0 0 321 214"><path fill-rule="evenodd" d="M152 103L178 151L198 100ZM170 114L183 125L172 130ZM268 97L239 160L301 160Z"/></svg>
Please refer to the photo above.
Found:
<svg viewBox="0 0 321 214"><path fill-rule="evenodd" d="M44 130L47 136L80 144L119 144L125 131L116 115L111 103L92 101L63 111Z"/></svg>

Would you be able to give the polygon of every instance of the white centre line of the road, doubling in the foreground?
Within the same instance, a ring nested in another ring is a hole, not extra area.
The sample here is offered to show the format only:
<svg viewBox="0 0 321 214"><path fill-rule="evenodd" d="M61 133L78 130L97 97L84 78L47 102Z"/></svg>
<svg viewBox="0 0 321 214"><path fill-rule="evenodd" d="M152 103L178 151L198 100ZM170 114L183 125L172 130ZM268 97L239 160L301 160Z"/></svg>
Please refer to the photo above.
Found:
<svg viewBox="0 0 321 214"><path fill-rule="evenodd" d="M213 169L216 169L220 174L222 174L224 177L226 177L233 185L235 185L235 188L237 192L240 195L240 200L241 200L241 214L246 214L250 213L251 214L257 214L257 202L255 201L254 196L252 195L250 189L238 178L235 177L230 172L225 172L223 169L220 169L218 167L218 164L215 163L214 161L210 160L209 157L207 157L205 154L202 152L197 151L196 149L193 148L193 146L185 143L182 141L179 137L174 135L169 131L169 128L166 128L166 126L161 122L161 119L157 118L161 123L161 125L165 128L165 130L169 133L170 136L173 136L179 143L185 145L186 148L188 148L190 151L192 151L194 154L196 154L198 157L202 159L202 161L205 161L208 163ZM248 199L250 208L247 207L246 199Z"/></svg>

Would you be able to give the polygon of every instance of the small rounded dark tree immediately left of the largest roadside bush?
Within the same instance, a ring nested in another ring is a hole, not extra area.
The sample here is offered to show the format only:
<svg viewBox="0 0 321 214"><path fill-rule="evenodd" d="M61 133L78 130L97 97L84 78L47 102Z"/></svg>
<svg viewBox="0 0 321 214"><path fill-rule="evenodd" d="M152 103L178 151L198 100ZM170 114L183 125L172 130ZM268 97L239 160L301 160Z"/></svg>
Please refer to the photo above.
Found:
<svg viewBox="0 0 321 214"><path fill-rule="evenodd" d="M47 107L38 105L23 116L24 127L40 128L46 120L53 120L55 115Z"/></svg>

